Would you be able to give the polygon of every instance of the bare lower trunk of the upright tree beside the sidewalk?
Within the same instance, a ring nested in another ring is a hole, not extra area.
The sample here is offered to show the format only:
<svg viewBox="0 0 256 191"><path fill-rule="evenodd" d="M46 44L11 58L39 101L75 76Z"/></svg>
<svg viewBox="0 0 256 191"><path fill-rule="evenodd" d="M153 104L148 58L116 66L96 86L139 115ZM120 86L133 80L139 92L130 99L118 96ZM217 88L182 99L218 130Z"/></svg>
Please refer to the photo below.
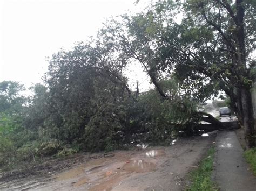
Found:
<svg viewBox="0 0 256 191"><path fill-rule="evenodd" d="M250 89L246 87L241 88L241 102L242 111L244 113L244 127L245 127L245 140L248 147L255 146L255 130L254 130L254 117L252 95Z"/></svg>

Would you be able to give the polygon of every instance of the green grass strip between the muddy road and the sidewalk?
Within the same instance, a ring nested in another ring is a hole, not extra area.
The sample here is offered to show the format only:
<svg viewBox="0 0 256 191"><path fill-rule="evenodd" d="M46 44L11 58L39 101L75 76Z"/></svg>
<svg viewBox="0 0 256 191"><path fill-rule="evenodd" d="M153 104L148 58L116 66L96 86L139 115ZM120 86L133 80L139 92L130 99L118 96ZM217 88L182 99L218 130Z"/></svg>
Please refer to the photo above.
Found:
<svg viewBox="0 0 256 191"><path fill-rule="evenodd" d="M210 148L207 157L200 162L197 169L190 173L191 184L186 188L187 191L218 190L217 185L211 180L214 153L215 149Z"/></svg>

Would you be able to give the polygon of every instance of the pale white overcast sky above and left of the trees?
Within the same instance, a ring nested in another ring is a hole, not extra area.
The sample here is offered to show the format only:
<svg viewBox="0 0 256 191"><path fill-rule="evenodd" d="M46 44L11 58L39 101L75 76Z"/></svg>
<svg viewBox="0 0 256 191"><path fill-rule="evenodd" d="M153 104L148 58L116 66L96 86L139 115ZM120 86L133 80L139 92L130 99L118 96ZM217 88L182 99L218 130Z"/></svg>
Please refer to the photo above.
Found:
<svg viewBox="0 0 256 191"><path fill-rule="evenodd" d="M143 10L151 0L0 0L0 82L31 86L47 70L46 56L96 34L105 18ZM136 69L134 79L144 83ZM143 84L141 84L142 86Z"/></svg>

